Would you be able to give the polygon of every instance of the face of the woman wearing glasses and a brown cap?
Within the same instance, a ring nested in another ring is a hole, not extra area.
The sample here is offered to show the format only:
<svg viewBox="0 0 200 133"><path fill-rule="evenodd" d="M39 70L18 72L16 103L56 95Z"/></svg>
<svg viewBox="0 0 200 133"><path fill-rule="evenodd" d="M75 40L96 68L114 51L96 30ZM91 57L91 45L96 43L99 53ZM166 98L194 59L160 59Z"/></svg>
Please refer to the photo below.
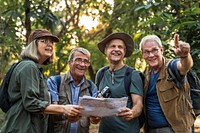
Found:
<svg viewBox="0 0 200 133"><path fill-rule="evenodd" d="M54 53L54 42L52 38L39 38L37 39L38 53L41 59L48 59Z"/></svg>

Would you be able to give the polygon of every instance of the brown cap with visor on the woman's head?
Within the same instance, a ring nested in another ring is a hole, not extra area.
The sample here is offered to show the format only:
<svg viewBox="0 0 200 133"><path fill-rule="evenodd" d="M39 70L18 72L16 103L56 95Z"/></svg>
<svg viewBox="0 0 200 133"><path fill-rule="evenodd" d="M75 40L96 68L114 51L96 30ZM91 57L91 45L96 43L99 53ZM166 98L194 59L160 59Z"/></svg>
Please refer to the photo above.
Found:
<svg viewBox="0 0 200 133"><path fill-rule="evenodd" d="M30 34L28 38L28 43L32 42L35 39L41 38L41 37L50 37L53 39L54 42L59 42L59 38L57 36L54 36L46 29L36 29L33 33Z"/></svg>

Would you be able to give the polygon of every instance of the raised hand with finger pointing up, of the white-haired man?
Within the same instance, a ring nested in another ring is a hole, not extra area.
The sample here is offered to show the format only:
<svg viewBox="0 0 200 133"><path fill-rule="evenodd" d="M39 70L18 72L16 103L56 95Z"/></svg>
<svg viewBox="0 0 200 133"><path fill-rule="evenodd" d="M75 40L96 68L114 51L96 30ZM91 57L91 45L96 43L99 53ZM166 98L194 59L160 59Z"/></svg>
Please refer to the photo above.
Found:
<svg viewBox="0 0 200 133"><path fill-rule="evenodd" d="M174 44L175 44L175 53L180 58L188 57L188 54L190 53L190 45L189 43L179 41L179 35L174 35Z"/></svg>

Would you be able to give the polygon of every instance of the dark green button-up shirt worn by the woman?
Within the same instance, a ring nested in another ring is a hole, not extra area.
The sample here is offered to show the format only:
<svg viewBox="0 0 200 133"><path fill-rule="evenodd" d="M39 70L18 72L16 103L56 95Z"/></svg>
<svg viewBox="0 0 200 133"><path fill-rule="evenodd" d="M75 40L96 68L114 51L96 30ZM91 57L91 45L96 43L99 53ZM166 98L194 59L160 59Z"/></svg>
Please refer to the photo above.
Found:
<svg viewBox="0 0 200 133"><path fill-rule="evenodd" d="M31 60L20 62L12 73L8 94L13 105L1 133L45 133L48 115L43 111L50 95L41 66Z"/></svg>

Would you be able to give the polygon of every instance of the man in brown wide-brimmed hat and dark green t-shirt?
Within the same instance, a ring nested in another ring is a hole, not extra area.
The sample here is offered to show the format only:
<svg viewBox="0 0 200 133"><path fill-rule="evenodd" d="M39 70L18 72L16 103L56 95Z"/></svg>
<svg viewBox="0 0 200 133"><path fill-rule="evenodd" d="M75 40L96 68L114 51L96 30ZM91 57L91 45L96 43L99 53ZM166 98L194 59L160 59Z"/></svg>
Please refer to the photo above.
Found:
<svg viewBox="0 0 200 133"><path fill-rule="evenodd" d="M99 50L106 55L109 61L109 68L105 70L102 79L99 79L100 69L97 72L96 83L100 84L101 91L108 86L111 91L111 98L127 97L124 87L124 76L128 66L124 58L131 56L134 44L132 38L126 33L113 33L98 43ZM120 110L116 116L103 117L99 125L99 133L139 133L139 121L137 117L142 111L143 82L138 71L131 73L130 96L128 96L127 107ZM93 118L93 123L98 119Z"/></svg>

